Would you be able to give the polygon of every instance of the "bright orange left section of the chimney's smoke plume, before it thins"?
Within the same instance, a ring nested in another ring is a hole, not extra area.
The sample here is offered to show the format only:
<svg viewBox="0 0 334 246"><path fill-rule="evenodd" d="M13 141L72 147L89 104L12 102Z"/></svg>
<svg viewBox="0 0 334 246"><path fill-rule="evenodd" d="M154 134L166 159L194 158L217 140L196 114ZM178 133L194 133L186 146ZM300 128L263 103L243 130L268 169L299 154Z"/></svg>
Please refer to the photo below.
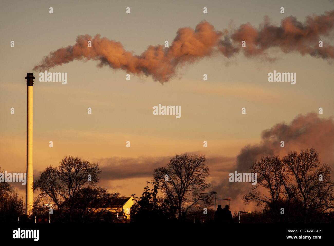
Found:
<svg viewBox="0 0 334 246"><path fill-rule="evenodd" d="M144 74L166 82L175 74L179 65L209 56L221 35L210 23L202 21L195 30L190 27L180 28L169 48L162 45L149 46L140 56L125 51L120 42L101 38L99 34L93 39L88 34L79 35L75 45L50 52L33 70L48 70L73 60L95 60L100 62L99 67L109 65L113 69ZM92 41L92 47L88 47L89 40Z"/></svg>

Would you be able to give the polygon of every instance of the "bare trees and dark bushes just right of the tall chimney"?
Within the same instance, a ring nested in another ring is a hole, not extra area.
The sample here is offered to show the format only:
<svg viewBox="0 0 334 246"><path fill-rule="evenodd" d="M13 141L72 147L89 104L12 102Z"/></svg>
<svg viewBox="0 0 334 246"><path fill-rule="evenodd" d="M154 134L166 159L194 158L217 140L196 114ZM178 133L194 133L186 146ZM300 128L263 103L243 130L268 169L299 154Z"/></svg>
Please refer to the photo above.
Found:
<svg viewBox="0 0 334 246"><path fill-rule="evenodd" d="M115 216L111 208L119 193L110 193L97 187L98 164L72 156L64 157L58 167L45 168L34 182L38 196L34 201L34 215L48 216L52 203L53 222L113 222L123 215Z"/></svg>

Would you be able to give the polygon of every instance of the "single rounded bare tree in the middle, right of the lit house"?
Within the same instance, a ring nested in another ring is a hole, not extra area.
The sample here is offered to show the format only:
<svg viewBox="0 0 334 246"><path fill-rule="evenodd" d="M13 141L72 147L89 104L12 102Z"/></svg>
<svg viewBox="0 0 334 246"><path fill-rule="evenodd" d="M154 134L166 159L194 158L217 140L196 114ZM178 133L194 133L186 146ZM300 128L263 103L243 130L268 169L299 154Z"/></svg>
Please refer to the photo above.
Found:
<svg viewBox="0 0 334 246"><path fill-rule="evenodd" d="M210 184L206 182L209 168L205 164L205 155L187 153L176 155L166 167L154 169L154 178L160 183L159 189L177 208L178 218L199 201L210 203L210 196L201 194Z"/></svg>

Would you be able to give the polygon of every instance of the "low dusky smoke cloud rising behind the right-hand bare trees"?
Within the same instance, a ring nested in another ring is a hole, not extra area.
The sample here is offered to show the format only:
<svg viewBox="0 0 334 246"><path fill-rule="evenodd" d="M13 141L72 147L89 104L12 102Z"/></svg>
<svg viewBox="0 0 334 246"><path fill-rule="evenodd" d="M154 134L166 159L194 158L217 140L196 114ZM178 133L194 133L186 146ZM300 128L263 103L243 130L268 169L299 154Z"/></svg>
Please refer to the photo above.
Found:
<svg viewBox="0 0 334 246"><path fill-rule="evenodd" d="M281 148L284 141L284 148ZM245 146L236 158L236 165L230 172L249 172L249 166L264 156L283 157L291 151L314 148L319 152L321 162L326 162L334 169L334 121L332 118L320 118L317 113L298 115L290 124L279 123L262 132L262 141L256 145ZM249 183L228 181L228 173L222 181L213 183L212 190L221 196L231 197L234 208L243 206L242 196L251 187Z"/></svg>

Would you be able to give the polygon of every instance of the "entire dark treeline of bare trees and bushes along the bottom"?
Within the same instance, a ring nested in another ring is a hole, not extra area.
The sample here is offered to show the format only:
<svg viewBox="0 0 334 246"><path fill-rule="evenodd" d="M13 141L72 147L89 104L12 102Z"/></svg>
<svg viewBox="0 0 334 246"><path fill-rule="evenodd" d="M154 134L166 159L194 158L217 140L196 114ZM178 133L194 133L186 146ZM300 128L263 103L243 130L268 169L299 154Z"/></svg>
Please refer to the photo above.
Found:
<svg viewBox="0 0 334 246"><path fill-rule="evenodd" d="M224 216L213 210L213 195L207 194L209 168L204 155L176 155L165 167L153 171L130 211L133 223L214 223ZM331 167L319 162L314 149L291 152L280 158L263 157L253 163L257 183L244 195L255 202L257 211L242 213L242 223L334 222L334 182ZM129 215L112 208L119 193L98 187L98 164L72 156L58 167L47 167L34 182L33 216L25 216L24 201L10 183L0 182L0 222L45 222L48 204L53 204L51 221L59 223L129 222ZM204 193L204 194L203 194ZM228 210L228 208L227 208ZM225 211L226 212L226 211ZM228 211L229 218L231 216ZM238 211L229 222L238 223Z"/></svg>

